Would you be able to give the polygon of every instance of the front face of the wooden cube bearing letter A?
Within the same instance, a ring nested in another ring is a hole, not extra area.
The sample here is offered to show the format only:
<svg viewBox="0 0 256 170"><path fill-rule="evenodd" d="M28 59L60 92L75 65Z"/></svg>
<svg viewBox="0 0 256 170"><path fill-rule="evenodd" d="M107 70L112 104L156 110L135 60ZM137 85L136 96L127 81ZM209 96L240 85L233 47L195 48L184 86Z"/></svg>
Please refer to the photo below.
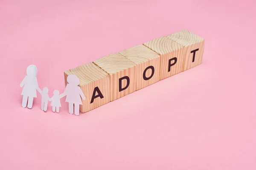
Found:
<svg viewBox="0 0 256 170"><path fill-rule="evenodd" d="M82 100L82 113L98 108L110 102L110 76L93 81L81 87L85 100Z"/></svg>

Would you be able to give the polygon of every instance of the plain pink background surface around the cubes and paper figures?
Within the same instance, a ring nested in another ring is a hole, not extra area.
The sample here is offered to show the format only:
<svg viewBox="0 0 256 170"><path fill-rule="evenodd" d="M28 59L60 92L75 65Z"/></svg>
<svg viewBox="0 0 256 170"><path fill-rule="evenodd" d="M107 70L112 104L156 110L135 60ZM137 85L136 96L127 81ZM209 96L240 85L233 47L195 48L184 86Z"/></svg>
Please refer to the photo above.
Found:
<svg viewBox="0 0 256 170"><path fill-rule="evenodd" d="M255 0L1 0L1 170L255 170ZM80 116L21 107L63 72L188 29L202 65Z"/></svg>

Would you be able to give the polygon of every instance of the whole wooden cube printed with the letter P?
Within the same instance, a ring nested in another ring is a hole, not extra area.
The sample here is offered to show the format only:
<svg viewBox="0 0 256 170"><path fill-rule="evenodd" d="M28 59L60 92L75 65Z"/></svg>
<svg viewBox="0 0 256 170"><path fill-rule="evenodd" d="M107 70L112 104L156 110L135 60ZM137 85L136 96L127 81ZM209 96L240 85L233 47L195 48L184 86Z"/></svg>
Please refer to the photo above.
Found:
<svg viewBox="0 0 256 170"><path fill-rule="evenodd" d="M182 71L183 47L167 37L160 37L144 45L160 54L160 80L173 76Z"/></svg>

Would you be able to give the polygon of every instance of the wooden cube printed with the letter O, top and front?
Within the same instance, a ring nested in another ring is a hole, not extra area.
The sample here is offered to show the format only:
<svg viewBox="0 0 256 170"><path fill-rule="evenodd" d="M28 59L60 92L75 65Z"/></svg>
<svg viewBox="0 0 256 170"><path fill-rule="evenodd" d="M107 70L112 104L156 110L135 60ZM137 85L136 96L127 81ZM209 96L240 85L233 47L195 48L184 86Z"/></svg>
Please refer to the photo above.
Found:
<svg viewBox="0 0 256 170"><path fill-rule="evenodd" d="M136 64L136 90L145 88L159 81L160 78L160 55L145 45L137 45L132 48L128 48L124 51L120 51L120 54L130 59ZM147 69L149 66L154 67L154 74L152 69ZM151 77L150 79L143 79L143 73L145 71L145 77Z"/></svg>

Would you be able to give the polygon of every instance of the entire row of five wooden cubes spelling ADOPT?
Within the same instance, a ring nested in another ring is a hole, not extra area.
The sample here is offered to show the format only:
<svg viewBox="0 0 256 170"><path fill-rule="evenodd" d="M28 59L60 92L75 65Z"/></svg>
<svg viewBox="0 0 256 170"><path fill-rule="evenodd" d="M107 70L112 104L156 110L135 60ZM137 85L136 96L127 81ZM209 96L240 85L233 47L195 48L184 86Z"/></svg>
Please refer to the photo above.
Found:
<svg viewBox="0 0 256 170"><path fill-rule="evenodd" d="M79 77L82 113L201 64L204 39L187 30L160 37L64 72Z"/></svg>

